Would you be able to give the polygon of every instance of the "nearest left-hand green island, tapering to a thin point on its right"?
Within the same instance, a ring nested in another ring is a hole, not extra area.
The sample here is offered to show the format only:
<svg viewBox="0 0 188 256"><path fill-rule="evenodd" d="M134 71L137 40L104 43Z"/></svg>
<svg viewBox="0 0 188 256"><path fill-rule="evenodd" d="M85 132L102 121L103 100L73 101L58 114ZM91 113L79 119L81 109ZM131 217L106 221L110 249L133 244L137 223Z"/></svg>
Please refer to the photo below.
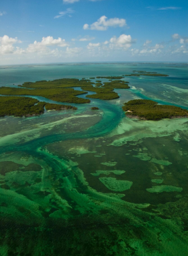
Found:
<svg viewBox="0 0 188 256"><path fill-rule="evenodd" d="M77 109L74 106L39 102L30 97L0 96L0 117L5 117L6 115L15 117L41 115L44 113L44 106L46 110Z"/></svg>

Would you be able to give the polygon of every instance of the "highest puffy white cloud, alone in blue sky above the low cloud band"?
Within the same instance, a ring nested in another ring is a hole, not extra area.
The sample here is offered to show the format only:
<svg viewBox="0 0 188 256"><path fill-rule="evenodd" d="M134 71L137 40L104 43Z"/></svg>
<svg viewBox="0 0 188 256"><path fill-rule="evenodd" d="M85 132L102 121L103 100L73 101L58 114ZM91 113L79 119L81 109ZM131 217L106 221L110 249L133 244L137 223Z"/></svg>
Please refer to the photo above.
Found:
<svg viewBox="0 0 188 256"><path fill-rule="evenodd" d="M107 20L105 15L101 16L97 22L94 22L89 26L85 24L83 26L84 30L107 30L108 27L123 27L126 26L126 20L119 18L112 18Z"/></svg>

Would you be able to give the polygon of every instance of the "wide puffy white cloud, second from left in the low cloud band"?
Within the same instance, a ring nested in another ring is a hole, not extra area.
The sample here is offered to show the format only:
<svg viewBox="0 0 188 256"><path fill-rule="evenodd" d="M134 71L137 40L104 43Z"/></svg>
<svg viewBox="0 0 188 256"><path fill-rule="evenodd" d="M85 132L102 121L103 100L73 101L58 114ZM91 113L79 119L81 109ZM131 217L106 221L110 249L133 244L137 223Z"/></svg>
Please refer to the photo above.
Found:
<svg viewBox="0 0 188 256"><path fill-rule="evenodd" d="M28 53L44 52L48 51L46 46L68 46L64 39L54 39L52 36L43 37L41 42L34 41L34 44L29 44Z"/></svg>

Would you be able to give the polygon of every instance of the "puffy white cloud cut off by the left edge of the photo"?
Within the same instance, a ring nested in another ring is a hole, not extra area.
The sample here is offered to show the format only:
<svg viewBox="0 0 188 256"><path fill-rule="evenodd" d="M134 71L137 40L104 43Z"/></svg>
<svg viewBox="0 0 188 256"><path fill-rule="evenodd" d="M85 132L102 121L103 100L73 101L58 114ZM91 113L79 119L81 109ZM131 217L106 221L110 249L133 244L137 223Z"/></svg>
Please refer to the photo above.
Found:
<svg viewBox="0 0 188 256"><path fill-rule="evenodd" d="M13 53L15 47L13 44L21 43L21 40L18 40L17 37L11 38L7 35L0 37L0 54Z"/></svg>

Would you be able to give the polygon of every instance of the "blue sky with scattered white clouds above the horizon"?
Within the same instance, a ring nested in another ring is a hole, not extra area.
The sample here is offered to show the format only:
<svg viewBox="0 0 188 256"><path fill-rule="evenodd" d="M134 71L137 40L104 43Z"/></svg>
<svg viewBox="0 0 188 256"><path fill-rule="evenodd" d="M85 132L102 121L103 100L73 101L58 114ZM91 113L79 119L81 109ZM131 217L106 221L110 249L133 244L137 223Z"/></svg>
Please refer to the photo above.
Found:
<svg viewBox="0 0 188 256"><path fill-rule="evenodd" d="M0 2L0 65L188 61L188 1Z"/></svg>

